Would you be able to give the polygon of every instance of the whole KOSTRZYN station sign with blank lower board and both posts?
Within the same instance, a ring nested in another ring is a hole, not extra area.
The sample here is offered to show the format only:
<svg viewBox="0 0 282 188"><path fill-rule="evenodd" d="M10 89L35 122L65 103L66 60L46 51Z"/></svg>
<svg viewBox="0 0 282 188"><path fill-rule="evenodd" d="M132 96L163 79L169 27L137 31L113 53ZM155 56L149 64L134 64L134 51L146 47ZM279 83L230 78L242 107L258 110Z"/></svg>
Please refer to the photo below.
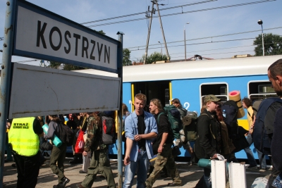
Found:
<svg viewBox="0 0 282 188"><path fill-rule="evenodd" d="M118 32L118 41L27 1L11 0L7 1L4 34L0 96L0 188L3 187L8 115L10 118L22 118L56 113L119 110L120 122L122 120L122 32ZM116 73L118 77L13 64L13 55L104 70ZM81 84L84 84L84 89L87 88L87 94L83 96L80 92L73 92L74 85ZM44 95L47 99L42 99ZM82 101L73 102L70 106L70 99ZM122 185L121 153L120 126L119 187Z"/></svg>

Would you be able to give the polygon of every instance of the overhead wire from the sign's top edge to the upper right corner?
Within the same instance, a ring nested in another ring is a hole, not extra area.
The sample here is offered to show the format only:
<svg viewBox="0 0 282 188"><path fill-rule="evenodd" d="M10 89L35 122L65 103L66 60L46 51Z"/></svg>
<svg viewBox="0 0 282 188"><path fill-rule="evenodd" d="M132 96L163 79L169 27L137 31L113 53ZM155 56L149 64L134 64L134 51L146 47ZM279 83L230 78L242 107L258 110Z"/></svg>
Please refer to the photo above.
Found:
<svg viewBox="0 0 282 188"><path fill-rule="evenodd" d="M162 17L165 16L170 16L170 15L179 15L179 14L183 14L183 13L196 13L196 12L202 12L202 11L212 11L212 10L217 10L217 9L222 9L222 8L231 8L231 7L235 7L235 6L247 6L247 5L251 5L251 4L261 4L261 3L268 3L271 1L276 1L276 0L264 0L264 1L254 1L254 2L250 2L250 3L245 3L245 4L233 4L233 5L228 5L228 6L218 6L218 7L214 7L214 8L204 8L204 9L200 9L200 10L195 10L195 11L186 11L186 12L181 12L181 13L171 13L171 14L166 14L166 15L161 15ZM158 18L158 16L153 16L153 18ZM103 26L103 25L112 25L112 24L117 24L117 23L127 23L127 22L133 22L133 21L138 21L138 20L145 20L147 18L136 18L133 20L123 20L123 21L117 21L114 23L102 23L102 24L98 24L98 25L90 25L87 27L97 27L97 26Z"/></svg>

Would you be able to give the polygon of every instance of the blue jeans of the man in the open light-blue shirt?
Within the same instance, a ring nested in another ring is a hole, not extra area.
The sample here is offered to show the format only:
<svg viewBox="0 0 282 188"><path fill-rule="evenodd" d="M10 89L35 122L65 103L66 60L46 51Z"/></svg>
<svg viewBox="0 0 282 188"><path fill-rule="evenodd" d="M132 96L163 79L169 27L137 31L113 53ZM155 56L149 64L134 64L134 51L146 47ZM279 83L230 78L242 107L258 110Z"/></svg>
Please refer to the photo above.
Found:
<svg viewBox="0 0 282 188"><path fill-rule="evenodd" d="M147 179L147 168L149 160L147 152L140 149L136 162L130 161L125 166L125 178L123 182L123 188L130 188L133 186L133 179L137 170L137 188L145 188L145 182Z"/></svg>

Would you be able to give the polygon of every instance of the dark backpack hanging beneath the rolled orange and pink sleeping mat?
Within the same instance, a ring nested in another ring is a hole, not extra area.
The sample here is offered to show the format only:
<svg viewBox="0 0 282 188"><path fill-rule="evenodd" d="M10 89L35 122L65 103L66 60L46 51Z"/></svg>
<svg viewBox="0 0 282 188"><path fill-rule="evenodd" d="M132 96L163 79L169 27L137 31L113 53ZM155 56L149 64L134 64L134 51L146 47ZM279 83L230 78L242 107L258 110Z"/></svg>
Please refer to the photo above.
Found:
<svg viewBox="0 0 282 188"><path fill-rule="evenodd" d="M231 139L234 139L235 135L238 133L238 110L239 108L236 102L233 100L226 101L221 106L223 121L224 123L226 123L226 126L228 128L228 134Z"/></svg>

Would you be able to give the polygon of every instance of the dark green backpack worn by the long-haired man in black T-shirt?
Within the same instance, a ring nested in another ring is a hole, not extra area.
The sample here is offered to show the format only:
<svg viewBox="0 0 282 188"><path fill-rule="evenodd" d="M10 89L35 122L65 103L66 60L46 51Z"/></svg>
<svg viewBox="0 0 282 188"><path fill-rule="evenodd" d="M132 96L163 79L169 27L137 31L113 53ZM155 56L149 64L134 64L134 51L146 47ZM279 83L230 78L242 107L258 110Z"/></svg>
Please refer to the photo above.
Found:
<svg viewBox="0 0 282 188"><path fill-rule="evenodd" d="M171 124L171 130L175 139L180 139L179 131L183 129L182 121L180 119L180 112L173 106L165 106L164 113L168 116L168 121Z"/></svg>

